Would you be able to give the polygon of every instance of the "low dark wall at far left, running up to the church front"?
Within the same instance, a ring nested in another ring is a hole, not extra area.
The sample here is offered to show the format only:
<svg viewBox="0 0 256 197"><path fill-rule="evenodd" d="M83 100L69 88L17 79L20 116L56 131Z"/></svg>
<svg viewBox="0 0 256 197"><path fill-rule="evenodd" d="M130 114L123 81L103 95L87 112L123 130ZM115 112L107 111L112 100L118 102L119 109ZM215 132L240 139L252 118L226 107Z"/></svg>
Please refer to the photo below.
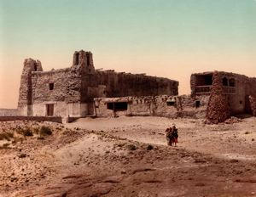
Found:
<svg viewBox="0 0 256 197"><path fill-rule="evenodd" d="M53 121L62 123L61 116L0 116L0 121Z"/></svg>

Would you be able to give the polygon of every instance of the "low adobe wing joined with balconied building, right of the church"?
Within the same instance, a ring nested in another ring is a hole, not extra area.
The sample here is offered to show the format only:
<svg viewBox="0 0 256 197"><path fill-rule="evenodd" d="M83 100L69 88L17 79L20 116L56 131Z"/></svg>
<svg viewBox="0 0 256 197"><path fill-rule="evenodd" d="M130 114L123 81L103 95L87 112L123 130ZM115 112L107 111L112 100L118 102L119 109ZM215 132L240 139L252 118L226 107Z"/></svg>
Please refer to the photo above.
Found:
<svg viewBox="0 0 256 197"><path fill-rule="evenodd" d="M218 76L217 87L212 84L213 74ZM94 98L96 115L158 115L202 119L212 115L212 123L225 121L230 115L247 113L256 116L256 78L229 72L203 72L191 75L190 86L190 95ZM222 95L215 95L219 91ZM224 118L220 120L222 115Z"/></svg>

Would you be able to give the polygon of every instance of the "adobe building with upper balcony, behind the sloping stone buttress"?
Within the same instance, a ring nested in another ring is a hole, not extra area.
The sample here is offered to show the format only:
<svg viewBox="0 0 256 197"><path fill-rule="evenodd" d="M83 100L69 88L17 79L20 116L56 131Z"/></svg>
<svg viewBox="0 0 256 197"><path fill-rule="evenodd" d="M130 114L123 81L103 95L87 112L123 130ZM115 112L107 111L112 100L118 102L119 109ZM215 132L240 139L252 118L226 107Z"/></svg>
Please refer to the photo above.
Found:
<svg viewBox="0 0 256 197"><path fill-rule="evenodd" d="M191 97L210 96L214 72L192 74L190 78ZM256 78L231 72L218 72L224 95L229 104L230 115L255 113Z"/></svg>

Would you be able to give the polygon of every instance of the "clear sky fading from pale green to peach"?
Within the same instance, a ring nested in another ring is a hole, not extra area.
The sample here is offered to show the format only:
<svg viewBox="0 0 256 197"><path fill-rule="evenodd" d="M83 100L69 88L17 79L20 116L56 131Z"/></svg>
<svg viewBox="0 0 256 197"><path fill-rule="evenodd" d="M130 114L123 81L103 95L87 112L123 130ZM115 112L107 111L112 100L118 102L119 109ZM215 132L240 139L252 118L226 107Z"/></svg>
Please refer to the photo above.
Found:
<svg viewBox="0 0 256 197"><path fill-rule="evenodd" d="M255 0L0 0L0 108L16 108L26 58L44 70L93 53L104 70L179 82L223 70L256 77Z"/></svg>

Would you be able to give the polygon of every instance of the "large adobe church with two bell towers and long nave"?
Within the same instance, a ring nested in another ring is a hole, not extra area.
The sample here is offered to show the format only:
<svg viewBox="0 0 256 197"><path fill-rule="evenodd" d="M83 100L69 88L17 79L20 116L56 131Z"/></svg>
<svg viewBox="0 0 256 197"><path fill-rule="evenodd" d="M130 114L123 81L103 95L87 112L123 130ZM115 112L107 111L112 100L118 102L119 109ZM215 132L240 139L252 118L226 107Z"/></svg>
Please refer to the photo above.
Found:
<svg viewBox="0 0 256 197"><path fill-rule="evenodd" d="M92 53L73 54L70 68L44 71L41 62L25 59L20 80L20 115L84 117L96 114L94 98L177 95L178 82L167 78L96 70ZM115 104L116 110L126 104Z"/></svg>

